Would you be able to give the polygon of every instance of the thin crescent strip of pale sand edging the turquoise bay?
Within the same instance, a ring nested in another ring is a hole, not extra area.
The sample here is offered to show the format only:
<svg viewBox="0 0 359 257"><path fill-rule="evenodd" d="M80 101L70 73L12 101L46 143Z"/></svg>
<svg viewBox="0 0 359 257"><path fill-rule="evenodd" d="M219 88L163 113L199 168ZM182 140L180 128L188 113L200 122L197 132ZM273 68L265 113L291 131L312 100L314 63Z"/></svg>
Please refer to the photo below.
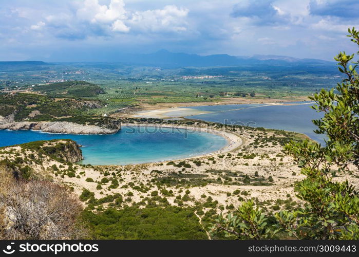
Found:
<svg viewBox="0 0 359 257"><path fill-rule="evenodd" d="M243 143L243 140L238 135L235 135L230 132L216 130L215 128L212 128L212 127L204 128L204 127L198 127L198 126L185 126L185 125L173 125L173 124L143 124L143 123L122 123L122 126L180 128L180 129L184 129L184 130L219 135L219 136L225 138L225 140L227 141L226 145L223 148L221 148L215 152L206 153L206 154L202 154L202 155L193 155L191 157L180 158L178 160L201 158L201 157L208 157L208 156L212 156L212 155L228 153L228 152L231 152L231 151L237 149ZM177 160L177 159L173 159L173 160ZM156 161L156 162L159 162L159 161ZM152 163L152 162L149 162L149 163Z"/></svg>

